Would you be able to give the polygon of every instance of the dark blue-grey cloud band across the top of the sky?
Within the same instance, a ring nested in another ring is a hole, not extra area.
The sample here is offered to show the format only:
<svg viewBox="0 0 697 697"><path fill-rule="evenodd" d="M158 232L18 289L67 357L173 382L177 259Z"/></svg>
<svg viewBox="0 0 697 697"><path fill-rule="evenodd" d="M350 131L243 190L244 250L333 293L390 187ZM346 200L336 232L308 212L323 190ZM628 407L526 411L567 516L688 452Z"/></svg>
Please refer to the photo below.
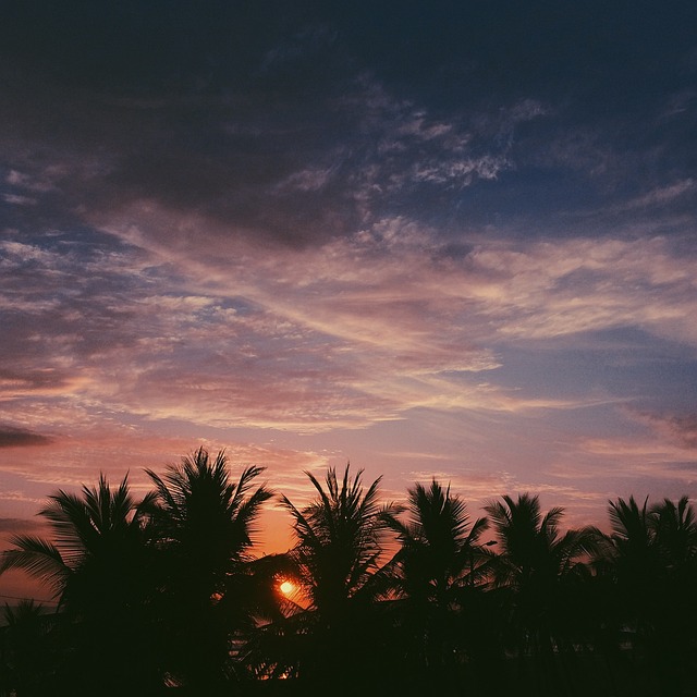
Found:
<svg viewBox="0 0 697 697"><path fill-rule="evenodd" d="M155 201L291 246L395 215L454 236L559 230L694 171L694 13L14 3L0 23L2 164L21 175L0 192L7 223L106 224Z"/></svg>

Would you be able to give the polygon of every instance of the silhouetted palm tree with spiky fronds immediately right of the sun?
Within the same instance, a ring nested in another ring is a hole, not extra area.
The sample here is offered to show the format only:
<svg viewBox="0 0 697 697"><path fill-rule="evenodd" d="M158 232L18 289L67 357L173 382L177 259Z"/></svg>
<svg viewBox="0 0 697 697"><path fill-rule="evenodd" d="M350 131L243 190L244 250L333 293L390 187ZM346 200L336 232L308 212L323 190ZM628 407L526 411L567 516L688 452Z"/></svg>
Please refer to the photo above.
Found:
<svg viewBox="0 0 697 697"><path fill-rule="evenodd" d="M340 480L330 467L325 486L306 474L317 491L311 503L299 510L281 498L293 516L296 543L290 555L309 602L294 620L302 632L311 626L313 633L311 650L301 650L301 672L320 682L331 677L346 684L359 674L368 680L377 669L369 663L381 633L375 600L387 588L380 557L389 519L399 509L380 505L381 478L364 489L363 469L352 478L346 465Z"/></svg>

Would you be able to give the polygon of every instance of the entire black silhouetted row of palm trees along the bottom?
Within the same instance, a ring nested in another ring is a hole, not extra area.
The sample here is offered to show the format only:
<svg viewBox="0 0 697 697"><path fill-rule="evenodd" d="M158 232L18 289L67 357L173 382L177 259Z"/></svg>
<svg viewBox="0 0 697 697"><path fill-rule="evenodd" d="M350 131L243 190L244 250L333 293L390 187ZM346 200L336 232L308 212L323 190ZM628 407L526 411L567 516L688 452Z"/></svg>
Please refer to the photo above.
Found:
<svg viewBox="0 0 697 697"><path fill-rule="evenodd" d="M562 533L531 494L473 519L437 480L383 504L379 479L329 469L307 506L280 497L294 547L258 557L261 473L200 449L143 500L103 477L49 497L51 539L15 536L0 573L58 610L5 607L0 696L697 694L687 498Z"/></svg>

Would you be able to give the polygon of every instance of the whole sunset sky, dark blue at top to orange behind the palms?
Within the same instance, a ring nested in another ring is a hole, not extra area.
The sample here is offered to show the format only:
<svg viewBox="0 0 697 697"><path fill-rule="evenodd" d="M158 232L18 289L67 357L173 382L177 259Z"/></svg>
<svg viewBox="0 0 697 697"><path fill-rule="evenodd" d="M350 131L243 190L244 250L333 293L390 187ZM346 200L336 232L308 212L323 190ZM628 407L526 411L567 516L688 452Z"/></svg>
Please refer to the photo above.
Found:
<svg viewBox="0 0 697 697"><path fill-rule="evenodd" d="M298 505L697 496L696 3L0 15L0 547L199 445Z"/></svg>

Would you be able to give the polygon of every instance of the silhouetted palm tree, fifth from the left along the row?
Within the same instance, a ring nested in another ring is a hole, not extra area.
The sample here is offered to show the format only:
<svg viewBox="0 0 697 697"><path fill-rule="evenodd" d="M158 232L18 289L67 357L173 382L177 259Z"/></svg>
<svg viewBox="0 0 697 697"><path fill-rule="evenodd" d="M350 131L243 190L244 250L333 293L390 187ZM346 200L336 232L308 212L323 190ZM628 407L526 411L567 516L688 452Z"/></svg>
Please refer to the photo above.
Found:
<svg viewBox="0 0 697 697"><path fill-rule="evenodd" d="M598 547L599 533L583 528L562 535L563 509L542 514L539 498L528 493L517 500L504 496L486 511L500 542L493 583L508 589L519 669L525 672L527 657L533 659L540 694L571 689L563 685L554 652L572 646L566 640L574 621L568 611L575 607L575 587L587 574L586 561Z"/></svg>

